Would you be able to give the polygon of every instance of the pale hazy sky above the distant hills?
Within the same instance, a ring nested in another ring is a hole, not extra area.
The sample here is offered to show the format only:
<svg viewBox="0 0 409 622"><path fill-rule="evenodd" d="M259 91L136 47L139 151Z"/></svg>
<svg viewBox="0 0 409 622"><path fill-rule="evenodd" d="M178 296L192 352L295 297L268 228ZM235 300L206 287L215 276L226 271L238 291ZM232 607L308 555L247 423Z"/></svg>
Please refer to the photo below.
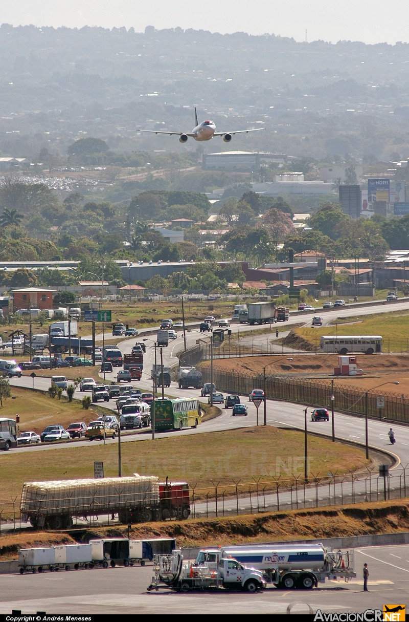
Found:
<svg viewBox="0 0 409 622"><path fill-rule="evenodd" d="M365 43L409 41L409 2L394 0L2 0L0 23L34 26L145 26L248 32Z"/></svg>

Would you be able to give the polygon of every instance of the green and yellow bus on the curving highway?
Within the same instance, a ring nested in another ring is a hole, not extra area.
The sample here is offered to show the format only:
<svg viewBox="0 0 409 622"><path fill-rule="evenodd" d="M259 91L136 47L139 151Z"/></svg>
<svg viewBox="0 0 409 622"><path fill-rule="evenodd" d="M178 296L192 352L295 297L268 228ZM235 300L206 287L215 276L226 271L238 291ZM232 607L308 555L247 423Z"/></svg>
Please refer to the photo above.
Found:
<svg viewBox="0 0 409 622"><path fill-rule="evenodd" d="M152 414L152 407L150 412ZM155 399L155 432L198 427L200 423L198 399Z"/></svg>

